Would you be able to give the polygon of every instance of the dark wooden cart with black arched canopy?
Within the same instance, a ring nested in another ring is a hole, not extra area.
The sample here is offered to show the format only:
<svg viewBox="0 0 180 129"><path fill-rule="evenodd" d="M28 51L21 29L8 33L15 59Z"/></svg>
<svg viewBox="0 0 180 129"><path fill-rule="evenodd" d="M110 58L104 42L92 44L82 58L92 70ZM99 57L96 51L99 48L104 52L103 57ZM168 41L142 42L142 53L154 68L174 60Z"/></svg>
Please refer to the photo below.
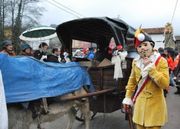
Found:
<svg viewBox="0 0 180 129"><path fill-rule="evenodd" d="M73 57L74 41L83 43L91 42L91 46L95 46L101 52L101 60L111 60L112 55L108 53L108 47L111 39L114 43L121 44L124 51L128 52L126 61L123 65L123 78L115 80L114 65L96 67L95 60L89 61L90 66L86 66L91 76L95 91L86 96L76 96L71 99L78 99L82 97L90 98L90 109L93 116L97 112L110 113L121 108L121 102L125 95L125 86L127 84L131 63L136 56L134 51L134 31L135 29L129 26L121 19L103 18L83 18L68 21L60 24L56 28L57 35L62 43L62 49L68 50L72 59L78 62L87 61L82 57ZM78 48L81 50L81 48ZM100 59L99 58L99 59ZM83 117L77 116L78 120L83 120Z"/></svg>

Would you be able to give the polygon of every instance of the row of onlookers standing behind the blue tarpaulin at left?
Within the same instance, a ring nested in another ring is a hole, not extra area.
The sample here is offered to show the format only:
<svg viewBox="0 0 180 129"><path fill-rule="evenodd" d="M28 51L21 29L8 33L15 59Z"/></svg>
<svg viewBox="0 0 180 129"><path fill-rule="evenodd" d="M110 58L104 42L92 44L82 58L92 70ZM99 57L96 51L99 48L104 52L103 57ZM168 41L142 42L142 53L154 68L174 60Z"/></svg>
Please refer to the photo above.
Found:
<svg viewBox="0 0 180 129"><path fill-rule="evenodd" d="M20 53L16 54L13 47L13 42L11 40L4 40L2 42L2 50L1 53L8 54L9 56L32 56L38 60L44 62L56 62L56 63L65 63L70 62L69 53L64 51L62 52L60 48L52 48L52 50L48 51L49 46L47 43L42 42L39 45L38 50L33 50L32 47L27 43L21 43L20 45Z"/></svg>

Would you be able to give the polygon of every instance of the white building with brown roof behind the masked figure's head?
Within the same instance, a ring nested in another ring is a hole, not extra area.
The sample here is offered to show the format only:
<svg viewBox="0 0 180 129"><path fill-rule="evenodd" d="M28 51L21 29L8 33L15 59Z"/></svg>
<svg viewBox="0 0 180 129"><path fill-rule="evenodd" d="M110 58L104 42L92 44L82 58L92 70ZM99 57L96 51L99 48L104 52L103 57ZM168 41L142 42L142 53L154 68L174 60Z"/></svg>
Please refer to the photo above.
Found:
<svg viewBox="0 0 180 129"><path fill-rule="evenodd" d="M155 41L155 48L164 48L164 27L160 28L143 28L143 30L151 35L153 41Z"/></svg>

